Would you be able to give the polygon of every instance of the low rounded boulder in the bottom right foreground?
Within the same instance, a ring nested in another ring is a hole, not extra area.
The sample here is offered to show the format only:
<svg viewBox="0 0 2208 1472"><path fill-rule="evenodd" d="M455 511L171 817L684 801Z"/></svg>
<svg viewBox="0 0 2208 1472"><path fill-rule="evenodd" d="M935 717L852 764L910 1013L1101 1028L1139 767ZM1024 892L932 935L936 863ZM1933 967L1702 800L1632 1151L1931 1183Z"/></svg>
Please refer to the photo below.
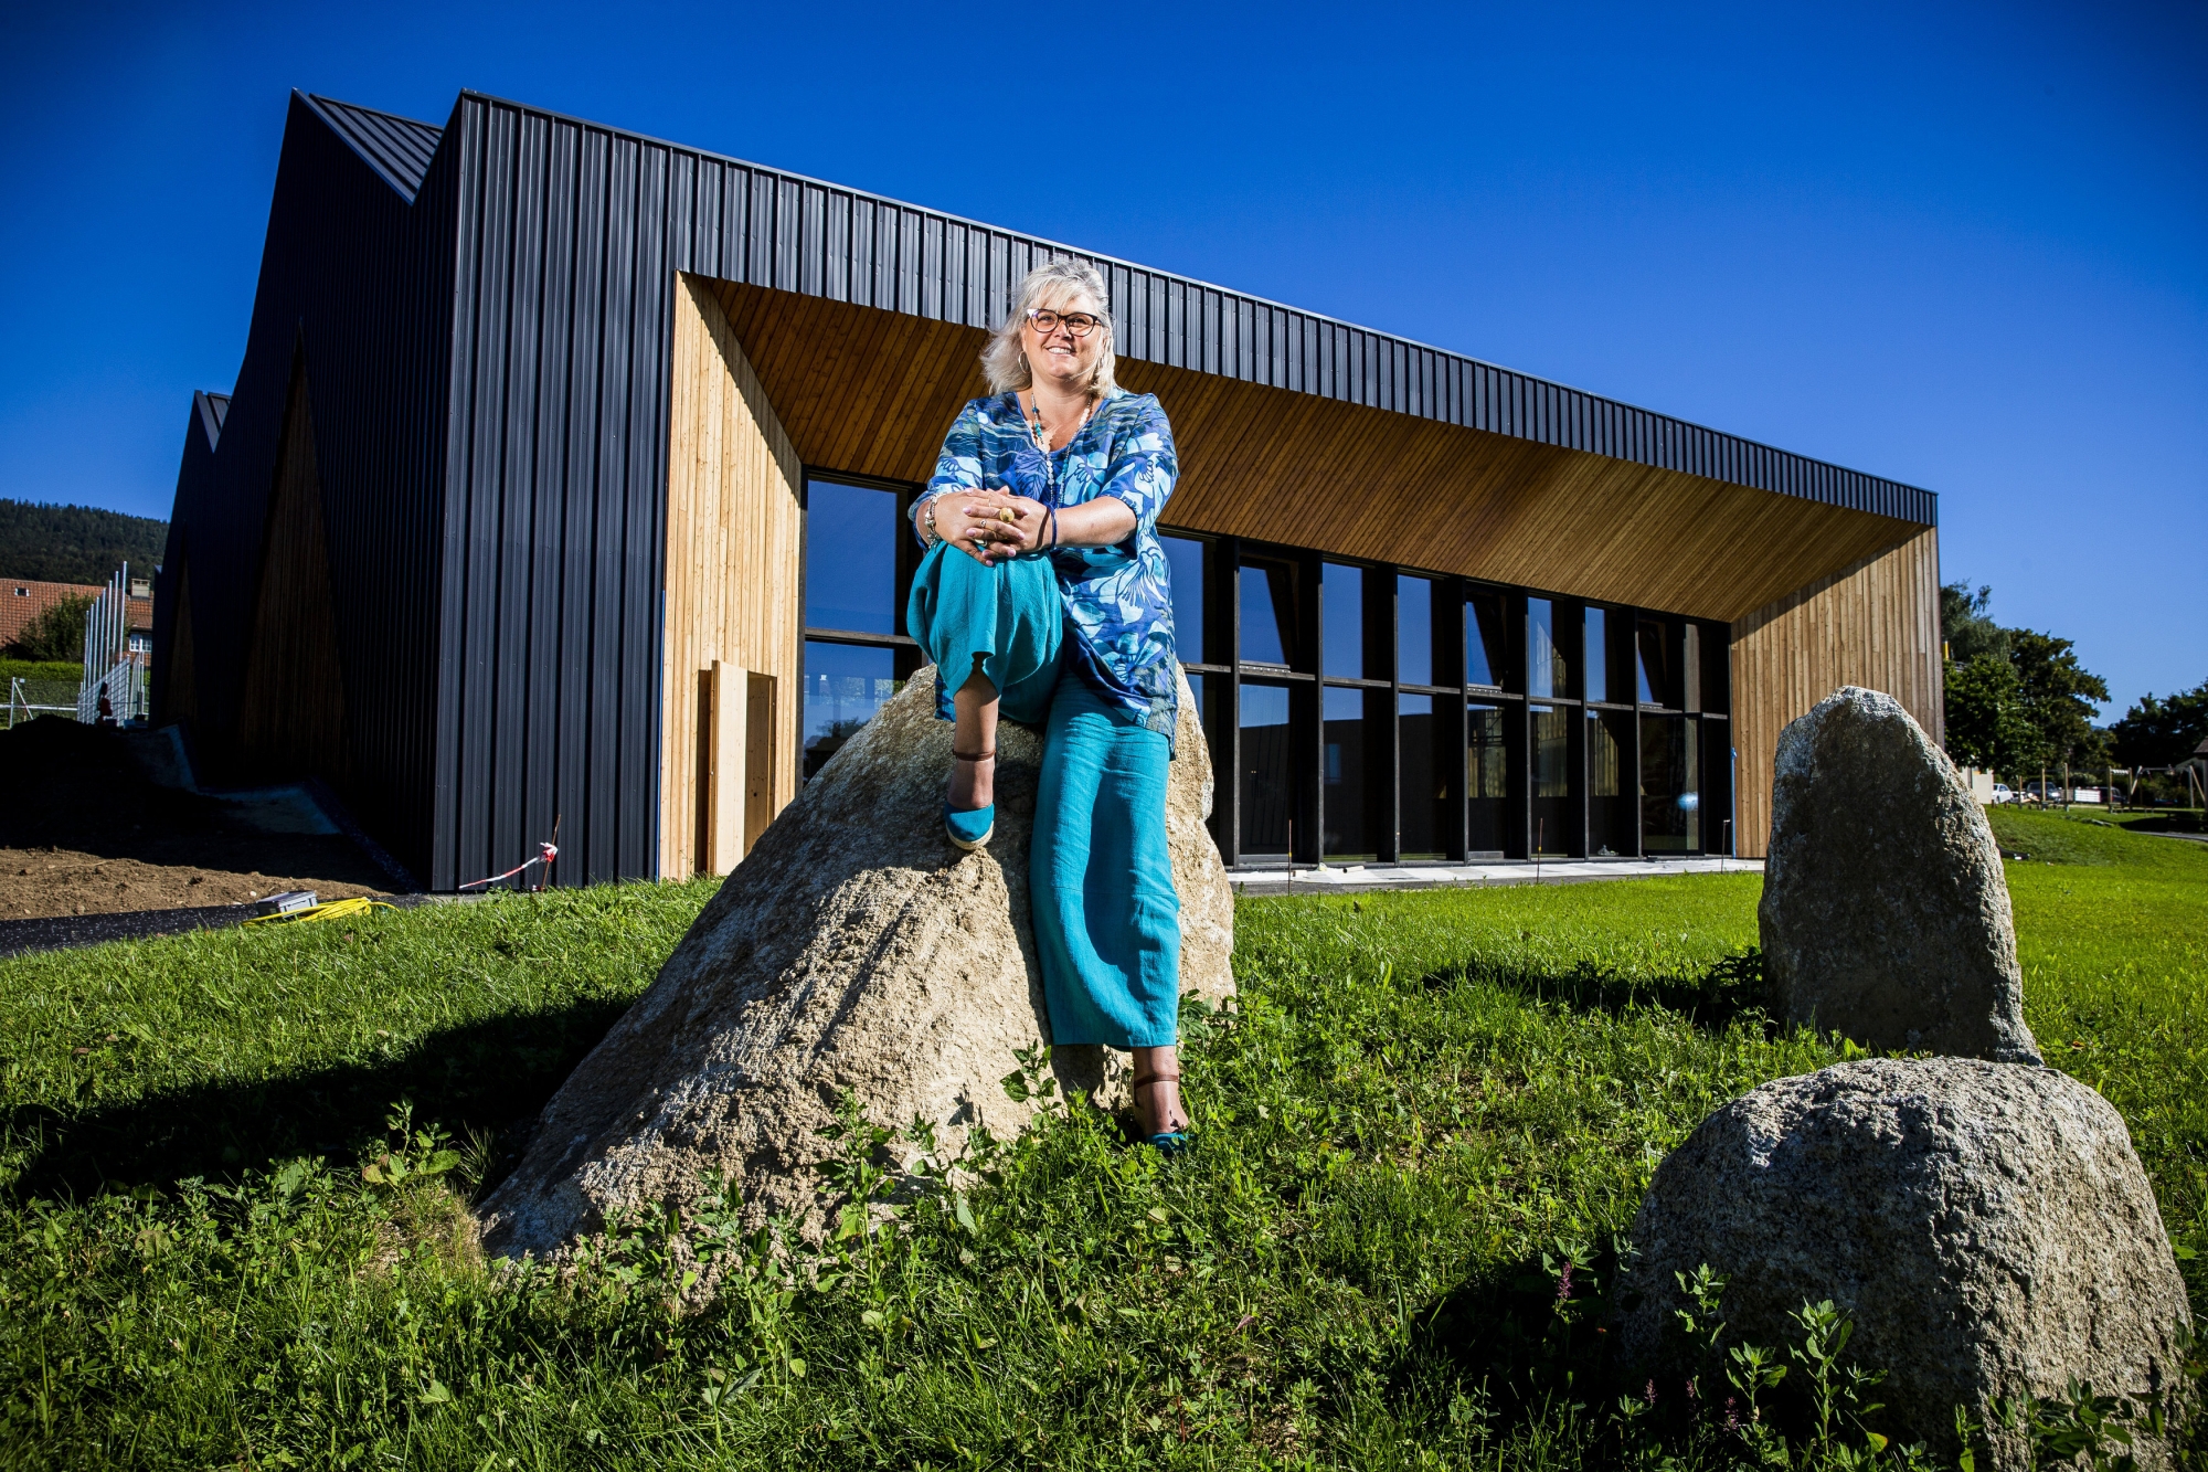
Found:
<svg viewBox="0 0 2208 1472"><path fill-rule="evenodd" d="M2186 1286L2131 1134L2049 1068L1864 1059L1766 1083L1656 1167L1630 1240L1630 1366L1682 1368L1674 1273L1707 1262L1727 1344L1800 1344L1788 1313L1833 1300L1848 1357L1888 1370L1881 1430L1947 1454L1956 1406L1985 1419L2073 1375L2122 1397L2184 1384Z"/></svg>

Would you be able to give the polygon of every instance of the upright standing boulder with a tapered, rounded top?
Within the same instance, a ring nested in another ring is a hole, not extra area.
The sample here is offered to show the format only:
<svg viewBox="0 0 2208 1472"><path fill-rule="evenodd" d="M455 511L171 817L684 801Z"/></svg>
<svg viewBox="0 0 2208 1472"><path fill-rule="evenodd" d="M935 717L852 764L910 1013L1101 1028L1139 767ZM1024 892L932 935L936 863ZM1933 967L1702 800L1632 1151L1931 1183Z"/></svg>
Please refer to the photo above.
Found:
<svg viewBox="0 0 2208 1472"><path fill-rule="evenodd" d="M1780 732L1755 917L1782 1019L1875 1050L2040 1061L1994 831L1892 696L1846 685Z"/></svg>

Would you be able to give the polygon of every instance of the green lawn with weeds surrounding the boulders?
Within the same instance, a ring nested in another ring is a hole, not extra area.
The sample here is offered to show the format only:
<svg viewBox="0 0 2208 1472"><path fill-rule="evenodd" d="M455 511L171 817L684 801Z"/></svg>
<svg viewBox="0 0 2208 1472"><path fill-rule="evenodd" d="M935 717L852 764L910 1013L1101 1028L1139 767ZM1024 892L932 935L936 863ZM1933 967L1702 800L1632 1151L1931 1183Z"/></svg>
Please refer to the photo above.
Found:
<svg viewBox="0 0 2208 1472"><path fill-rule="evenodd" d="M2062 860L2011 866L2029 1019L2204 1251L2208 853L1996 822ZM1243 902L1241 1008L1188 1026L1192 1158L1060 1112L824 1286L729 1242L691 1317L651 1220L501 1278L459 1205L492 1152L358 1163L402 1094L455 1136L534 1110L707 886L0 961L0 1465L1616 1459L1585 1293L1612 1233L1718 1103L1837 1056L1753 1008L1758 886Z"/></svg>

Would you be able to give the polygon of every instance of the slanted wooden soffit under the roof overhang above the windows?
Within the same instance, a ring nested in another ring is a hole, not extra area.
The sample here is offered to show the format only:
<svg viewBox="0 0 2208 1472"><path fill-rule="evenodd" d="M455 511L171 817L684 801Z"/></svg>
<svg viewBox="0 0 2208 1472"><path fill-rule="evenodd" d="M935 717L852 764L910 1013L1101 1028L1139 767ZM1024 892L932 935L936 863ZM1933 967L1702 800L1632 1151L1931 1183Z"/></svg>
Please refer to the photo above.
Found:
<svg viewBox="0 0 2208 1472"><path fill-rule="evenodd" d="M921 482L985 393L978 327L713 283L799 458ZM1119 360L1172 416L1166 522L1733 621L1901 546L1914 522L1314 393Z"/></svg>

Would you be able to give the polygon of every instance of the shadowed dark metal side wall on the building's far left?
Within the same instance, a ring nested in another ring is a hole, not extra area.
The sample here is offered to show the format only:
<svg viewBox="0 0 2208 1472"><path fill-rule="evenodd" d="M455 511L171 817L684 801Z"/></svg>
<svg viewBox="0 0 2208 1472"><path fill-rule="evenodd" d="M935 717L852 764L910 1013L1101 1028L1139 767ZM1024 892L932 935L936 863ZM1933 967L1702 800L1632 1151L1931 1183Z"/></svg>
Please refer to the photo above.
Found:
<svg viewBox="0 0 2208 1472"><path fill-rule="evenodd" d="M221 780L252 780L252 771L225 771L225 751L254 634L291 376L300 371L344 690L347 774L333 785L415 873L431 866L435 847L450 164L435 164L422 183L422 201L411 203L325 108L291 95L245 360L216 416L221 438L208 444L199 416L188 433L155 614L163 645L157 718L174 714L168 676L177 592L188 583L192 738Z"/></svg>

